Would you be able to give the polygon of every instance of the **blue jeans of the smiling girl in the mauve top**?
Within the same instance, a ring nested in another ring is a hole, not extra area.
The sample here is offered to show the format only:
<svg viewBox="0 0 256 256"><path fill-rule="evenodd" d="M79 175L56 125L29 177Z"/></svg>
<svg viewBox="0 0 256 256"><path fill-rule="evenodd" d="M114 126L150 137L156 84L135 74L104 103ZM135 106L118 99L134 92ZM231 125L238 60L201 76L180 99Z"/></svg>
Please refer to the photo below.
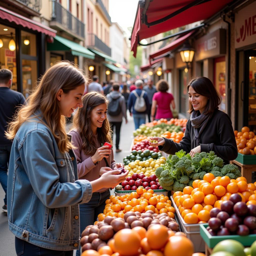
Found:
<svg viewBox="0 0 256 256"><path fill-rule="evenodd" d="M86 204L79 205L79 213L80 213L80 236L84 229L93 225L95 221L97 221L97 217L100 213L103 213L105 209L105 201L109 199L110 191L107 190L105 192L92 193L91 200ZM80 250L77 250L76 256L80 256Z"/></svg>

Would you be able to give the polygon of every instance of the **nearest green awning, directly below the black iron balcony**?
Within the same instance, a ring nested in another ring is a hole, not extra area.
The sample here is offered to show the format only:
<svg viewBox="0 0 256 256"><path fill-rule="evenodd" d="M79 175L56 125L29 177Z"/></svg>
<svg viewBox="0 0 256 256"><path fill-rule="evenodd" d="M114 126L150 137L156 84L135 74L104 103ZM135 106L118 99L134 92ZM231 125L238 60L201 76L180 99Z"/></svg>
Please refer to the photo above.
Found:
<svg viewBox="0 0 256 256"><path fill-rule="evenodd" d="M76 56L83 56L87 59L95 59L95 54L91 51L89 51L87 48L70 41L66 38L55 36L54 42L47 43L47 51L69 51L71 50L71 53Z"/></svg>

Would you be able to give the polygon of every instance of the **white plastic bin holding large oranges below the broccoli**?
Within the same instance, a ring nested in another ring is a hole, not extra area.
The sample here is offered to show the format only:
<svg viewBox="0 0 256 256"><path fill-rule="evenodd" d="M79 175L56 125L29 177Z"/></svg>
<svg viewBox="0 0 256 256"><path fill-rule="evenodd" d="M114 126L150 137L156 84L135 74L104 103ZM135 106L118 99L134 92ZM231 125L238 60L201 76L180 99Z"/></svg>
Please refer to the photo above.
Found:
<svg viewBox="0 0 256 256"><path fill-rule="evenodd" d="M184 232L189 238L195 247L195 252L204 252L205 251L205 242L200 235L200 225L201 224L187 224L179 213L179 209L176 206L173 197L171 196L173 207L175 208L175 215L181 231Z"/></svg>

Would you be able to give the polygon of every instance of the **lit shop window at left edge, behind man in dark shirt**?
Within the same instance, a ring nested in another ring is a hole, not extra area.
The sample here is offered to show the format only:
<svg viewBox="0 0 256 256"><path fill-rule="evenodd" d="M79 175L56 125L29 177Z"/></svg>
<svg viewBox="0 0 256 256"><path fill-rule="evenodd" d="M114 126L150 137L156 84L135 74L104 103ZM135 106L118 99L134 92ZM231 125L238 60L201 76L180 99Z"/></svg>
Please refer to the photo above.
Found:
<svg viewBox="0 0 256 256"><path fill-rule="evenodd" d="M17 91L17 63L16 63L16 45L15 50L9 49L9 42L15 38L15 29L0 24L0 69L7 68L13 72L12 90ZM11 48L12 49L12 48Z"/></svg>

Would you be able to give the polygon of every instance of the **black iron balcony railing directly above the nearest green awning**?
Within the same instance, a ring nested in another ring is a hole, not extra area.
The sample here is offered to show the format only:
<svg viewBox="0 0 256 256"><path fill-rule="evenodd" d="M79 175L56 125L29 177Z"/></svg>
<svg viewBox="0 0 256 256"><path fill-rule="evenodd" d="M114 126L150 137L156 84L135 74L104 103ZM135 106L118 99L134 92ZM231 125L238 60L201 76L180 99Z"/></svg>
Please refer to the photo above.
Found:
<svg viewBox="0 0 256 256"><path fill-rule="evenodd" d="M52 1L52 20L84 38L84 23L62 7L56 0Z"/></svg>

